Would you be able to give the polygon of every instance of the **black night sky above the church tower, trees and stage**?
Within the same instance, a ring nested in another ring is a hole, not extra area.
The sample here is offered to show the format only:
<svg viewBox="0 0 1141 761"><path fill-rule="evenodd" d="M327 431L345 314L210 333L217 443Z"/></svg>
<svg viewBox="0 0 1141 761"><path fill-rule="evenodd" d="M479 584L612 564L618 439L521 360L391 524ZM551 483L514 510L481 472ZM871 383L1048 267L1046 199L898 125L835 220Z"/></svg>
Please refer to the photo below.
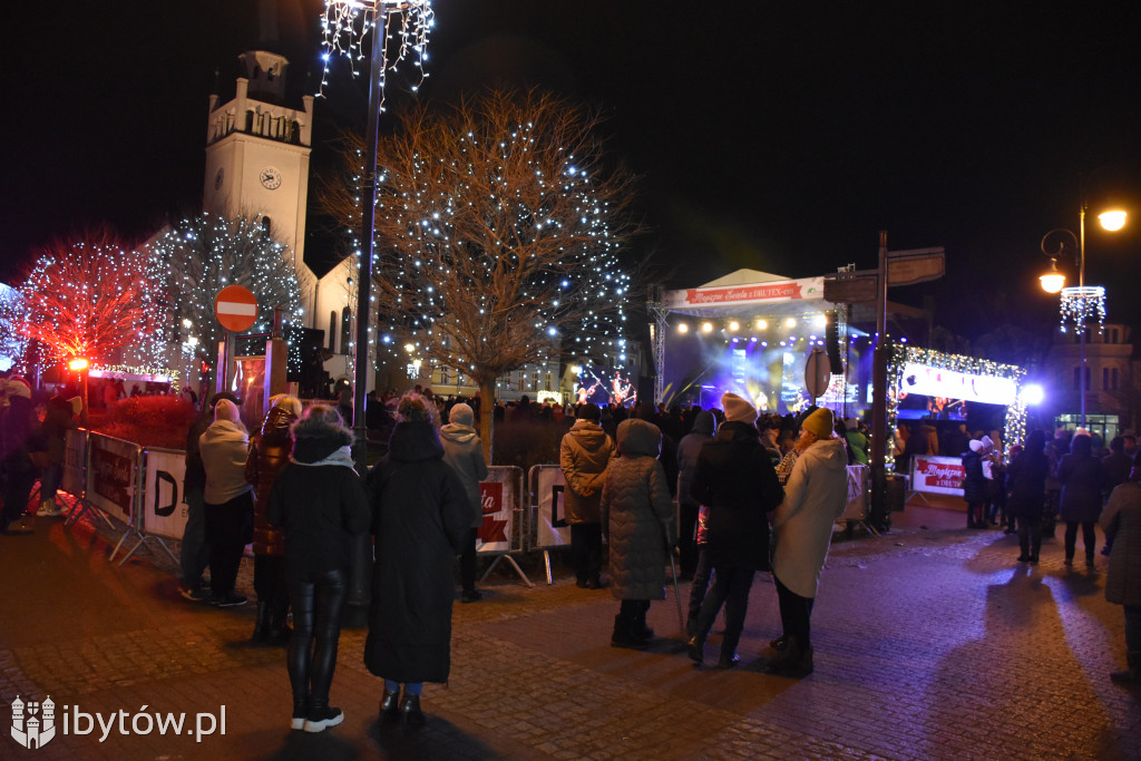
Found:
<svg viewBox="0 0 1141 761"><path fill-rule="evenodd" d="M944 246L937 324L976 338L1051 324L1039 241L1114 195L1133 224L1087 225L1087 282L1141 326L1141 3L556 2L437 0L422 97L535 86L600 106L644 176L638 256L694 286L741 267L804 277ZM315 0L283 0L280 42L304 89ZM145 236L201 204L215 70L228 98L258 40L250 0L6 3L0 280L37 246L107 224ZM390 80L389 106L412 70ZM314 83L316 79L311 80ZM314 84L315 86L315 84ZM363 123L343 68L318 138ZM315 167L321 169L321 147ZM1076 276L1075 278L1076 280Z"/></svg>

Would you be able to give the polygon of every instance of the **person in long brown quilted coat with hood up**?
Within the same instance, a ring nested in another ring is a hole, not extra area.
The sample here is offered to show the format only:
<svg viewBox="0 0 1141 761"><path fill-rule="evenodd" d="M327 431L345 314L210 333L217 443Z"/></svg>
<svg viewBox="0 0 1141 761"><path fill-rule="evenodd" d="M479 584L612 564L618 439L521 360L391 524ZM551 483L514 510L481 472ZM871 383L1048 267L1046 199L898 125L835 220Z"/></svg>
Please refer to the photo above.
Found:
<svg viewBox="0 0 1141 761"><path fill-rule="evenodd" d="M610 547L610 593L622 606L614 617L612 647L646 648L650 600L665 599L666 552L677 541L673 501L658 461L662 431L631 419L618 423L618 458L606 469L599 503Z"/></svg>

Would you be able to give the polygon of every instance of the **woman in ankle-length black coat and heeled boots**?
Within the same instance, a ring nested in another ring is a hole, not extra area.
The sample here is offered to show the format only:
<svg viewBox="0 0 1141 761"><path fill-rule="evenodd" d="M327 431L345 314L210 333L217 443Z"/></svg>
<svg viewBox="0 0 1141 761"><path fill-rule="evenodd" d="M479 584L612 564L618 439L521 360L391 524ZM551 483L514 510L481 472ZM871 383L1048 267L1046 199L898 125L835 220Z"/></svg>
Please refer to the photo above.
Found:
<svg viewBox="0 0 1141 761"><path fill-rule="evenodd" d="M367 478L377 561L364 659L385 680L381 719L411 726L424 722L423 682L445 682L451 671L452 567L471 525L432 412L419 394L400 397L389 453Z"/></svg>

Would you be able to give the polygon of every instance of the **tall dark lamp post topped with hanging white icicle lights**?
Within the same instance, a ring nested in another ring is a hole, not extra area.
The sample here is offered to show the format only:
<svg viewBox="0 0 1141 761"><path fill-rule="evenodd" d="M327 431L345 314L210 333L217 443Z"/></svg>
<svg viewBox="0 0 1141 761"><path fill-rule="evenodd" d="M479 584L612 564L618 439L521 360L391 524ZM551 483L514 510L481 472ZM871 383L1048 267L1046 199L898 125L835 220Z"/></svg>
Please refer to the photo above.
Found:
<svg viewBox="0 0 1141 761"><path fill-rule="evenodd" d="M325 72L321 89L327 84L330 62L345 56L353 74L357 62L364 59L364 39L372 34L369 79L367 156L364 164L362 193L361 251L357 252L356 278L356 341L355 377L353 390L354 460L359 472L367 468L367 429L365 428L365 392L369 383L369 348L371 341L370 305L372 266L375 256L377 224L377 141L380 139L380 113L385 108L385 82L389 70L415 55L415 66L423 81L423 65L428 59L428 33L435 23L431 0L325 0L321 17L324 32ZM396 43L389 44L390 40ZM416 87L412 88L416 91Z"/></svg>

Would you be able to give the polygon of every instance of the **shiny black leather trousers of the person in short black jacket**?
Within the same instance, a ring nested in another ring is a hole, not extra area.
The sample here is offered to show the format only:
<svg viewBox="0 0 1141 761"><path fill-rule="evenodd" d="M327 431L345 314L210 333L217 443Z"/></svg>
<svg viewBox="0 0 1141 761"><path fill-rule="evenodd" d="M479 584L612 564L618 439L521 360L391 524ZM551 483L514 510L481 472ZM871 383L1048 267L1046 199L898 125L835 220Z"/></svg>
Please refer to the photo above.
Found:
<svg viewBox="0 0 1141 761"><path fill-rule="evenodd" d="M289 641L289 681L293 703L329 705L329 687L337 669L337 642L348 597L348 568L309 574L290 573L293 635Z"/></svg>

